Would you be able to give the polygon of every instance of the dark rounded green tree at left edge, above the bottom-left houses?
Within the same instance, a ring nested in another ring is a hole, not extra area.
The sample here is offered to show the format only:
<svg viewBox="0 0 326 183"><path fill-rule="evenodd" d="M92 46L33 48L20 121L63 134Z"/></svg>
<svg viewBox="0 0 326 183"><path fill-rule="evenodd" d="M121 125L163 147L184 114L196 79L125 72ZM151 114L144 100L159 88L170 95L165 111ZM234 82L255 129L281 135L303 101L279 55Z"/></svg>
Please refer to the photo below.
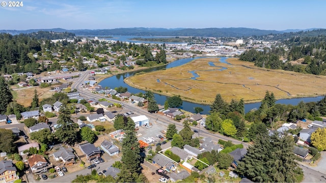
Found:
<svg viewBox="0 0 326 183"><path fill-rule="evenodd" d="M14 134L11 130L0 129L0 151L14 153L16 145L14 144Z"/></svg>

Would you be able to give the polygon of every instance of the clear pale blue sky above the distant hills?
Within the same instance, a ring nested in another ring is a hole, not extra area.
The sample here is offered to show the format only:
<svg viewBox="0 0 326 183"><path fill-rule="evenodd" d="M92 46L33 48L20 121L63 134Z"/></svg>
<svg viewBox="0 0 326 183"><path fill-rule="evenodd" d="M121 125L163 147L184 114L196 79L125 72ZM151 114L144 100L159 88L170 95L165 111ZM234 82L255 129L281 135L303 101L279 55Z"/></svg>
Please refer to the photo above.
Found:
<svg viewBox="0 0 326 183"><path fill-rule="evenodd" d="M8 3L7 0L3 0ZM121 27L326 28L326 1L311 0L23 0L0 7L0 29Z"/></svg>

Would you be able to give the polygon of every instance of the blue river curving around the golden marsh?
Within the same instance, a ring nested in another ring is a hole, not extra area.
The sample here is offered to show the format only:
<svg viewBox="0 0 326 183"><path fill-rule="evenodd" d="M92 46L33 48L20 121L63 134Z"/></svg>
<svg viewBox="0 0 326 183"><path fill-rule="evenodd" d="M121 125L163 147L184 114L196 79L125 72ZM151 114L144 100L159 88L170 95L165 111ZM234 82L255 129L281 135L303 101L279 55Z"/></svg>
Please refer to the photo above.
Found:
<svg viewBox="0 0 326 183"><path fill-rule="evenodd" d="M202 58L202 57L196 57L196 58ZM188 62L191 62L192 60L194 60L196 58L178 59L178 60L175 60L174 62L169 63L168 65L165 65L165 66L159 66L159 67L148 68L148 69L139 70L139 71L131 71L131 72L123 73L123 74L118 74L118 75L111 76L109 78L106 78L106 79L102 80L99 84L102 87L107 86L107 87L110 87L110 88L115 88L115 87L119 87L119 86L127 87L128 92L133 93L133 94L137 94L137 93L140 93L140 92L145 93L144 90L134 88L134 87L131 87L128 84L126 84L124 82L124 79L127 78L127 77L130 77L130 76L133 76L135 73L138 73L138 72L153 72L153 71L161 70L163 68L169 69L169 68L181 66L181 65L186 64ZM220 62L227 63L227 61L226 61L227 58L228 57L220 57ZM227 63L227 64L229 64L229 63ZM193 79L195 79L196 77L197 76L194 75ZM164 102L168 98L167 96L159 95L159 94L154 94L154 97L155 97L155 100L156 100L157 104L160 104L160 105L164 105ZM297 105L300 101L317 102L317 101L320 101L322 98L323 98L323 96L293 98L293 99L280 99L280 100L277 100L276 103L277 104ZM259 108L260 105L261 105L260 102L244 104L244 112L247 113L251 109ZM195 107L203 108L204 111L202 112L202 114L208 114L208 111L210 110L209 105L197 104L197 103L187 102L187 101L183 101L183 104L182 104L182 106L180 108L183 109L183 110L189 111L189 112L195 112L195 110L194 110Z"/></svg>

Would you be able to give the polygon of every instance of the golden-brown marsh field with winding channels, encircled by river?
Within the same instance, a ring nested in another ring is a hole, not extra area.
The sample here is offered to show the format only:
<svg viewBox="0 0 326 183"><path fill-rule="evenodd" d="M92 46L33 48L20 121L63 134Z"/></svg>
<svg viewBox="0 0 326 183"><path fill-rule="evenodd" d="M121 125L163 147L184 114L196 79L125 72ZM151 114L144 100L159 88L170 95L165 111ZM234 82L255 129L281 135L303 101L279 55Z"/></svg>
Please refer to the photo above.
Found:
<svg viewBox="0 0 326 183"><path fill-rule="evenodd" d="M229 64L221 63L219 59L198 58L179 67L132 76L125 82L140 89L167 96L180 95L183 100L203 104L210 104L216 94L221 94L227 102L243 98L247 103L260 101L266 90L273 92L277 99L326 94L326 76L259 68L237 58L228 58Z"/></svg>

